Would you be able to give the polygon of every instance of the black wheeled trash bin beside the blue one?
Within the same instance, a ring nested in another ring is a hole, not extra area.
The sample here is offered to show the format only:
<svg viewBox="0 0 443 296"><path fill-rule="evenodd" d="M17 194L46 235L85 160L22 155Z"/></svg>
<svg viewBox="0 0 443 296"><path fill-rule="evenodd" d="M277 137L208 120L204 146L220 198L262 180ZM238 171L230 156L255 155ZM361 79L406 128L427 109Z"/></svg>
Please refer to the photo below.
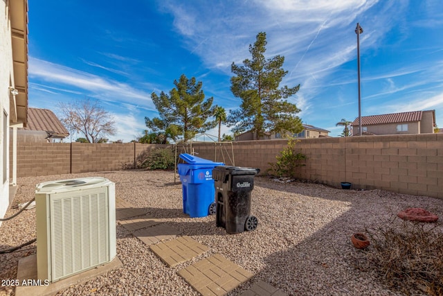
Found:
<svg viewBox="0 0 443 296"><path fill-rule="evenodd" d="M258 220L251 216L251 192L254 176L259 172L259 168L240 166L216 166L213 169L217 227L224 227L229 234L257 228Z"/></svg>

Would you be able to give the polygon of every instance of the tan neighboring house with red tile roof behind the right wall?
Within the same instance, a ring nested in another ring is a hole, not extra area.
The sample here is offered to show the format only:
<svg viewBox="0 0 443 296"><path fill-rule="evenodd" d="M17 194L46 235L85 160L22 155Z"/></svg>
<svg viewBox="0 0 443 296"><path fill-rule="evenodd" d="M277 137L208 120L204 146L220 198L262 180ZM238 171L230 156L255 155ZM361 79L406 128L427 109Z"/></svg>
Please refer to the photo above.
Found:
<svg viewBox="0 0 443 296"><path fill-rule="evenodd" d="M351 123L354 136L360 134L359 118ZM432 134L435 110L401 112L361 117L363 135L378 134Z"/></svg>

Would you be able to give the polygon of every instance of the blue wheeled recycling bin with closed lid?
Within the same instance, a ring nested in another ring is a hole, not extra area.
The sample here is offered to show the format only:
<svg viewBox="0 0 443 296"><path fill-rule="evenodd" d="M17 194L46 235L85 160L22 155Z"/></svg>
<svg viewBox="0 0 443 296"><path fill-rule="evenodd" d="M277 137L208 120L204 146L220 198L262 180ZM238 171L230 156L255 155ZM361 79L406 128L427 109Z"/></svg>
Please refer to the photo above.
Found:
<svg viewBox="0 0 443 296"><path fill-rule="evenodd" d="M213 168L224 166L222 162L213 162L187 153L180 158L187 164L179 164L181 189L183 190L183 213L191 218L215 215L215 186Z"/></svg>

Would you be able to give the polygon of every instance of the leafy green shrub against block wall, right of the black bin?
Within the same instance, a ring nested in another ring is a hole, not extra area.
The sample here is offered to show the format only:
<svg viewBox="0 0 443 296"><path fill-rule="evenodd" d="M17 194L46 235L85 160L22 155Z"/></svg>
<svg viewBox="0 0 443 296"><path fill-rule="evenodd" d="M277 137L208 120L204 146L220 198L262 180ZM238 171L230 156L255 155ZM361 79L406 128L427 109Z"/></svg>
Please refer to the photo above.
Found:
<svg viewBox="0 0 443 296"><path fill-rule="evenodd" d="M306 155L296 151L296 143L300 141L294 138L289 138L288 145L279 155L275 156L277 162L269 163L271 168L268 169L272 175L278 177L295 177L297 168L305 166L303 162L306 160Z"/></svg>

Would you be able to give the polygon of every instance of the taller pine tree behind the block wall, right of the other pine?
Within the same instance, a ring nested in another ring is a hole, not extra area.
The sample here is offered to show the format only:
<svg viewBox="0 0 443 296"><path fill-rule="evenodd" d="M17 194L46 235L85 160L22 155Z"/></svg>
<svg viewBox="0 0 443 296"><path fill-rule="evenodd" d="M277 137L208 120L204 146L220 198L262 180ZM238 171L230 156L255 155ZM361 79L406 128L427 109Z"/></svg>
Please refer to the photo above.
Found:
<svg viewBox="0 0 443 296"><path fill-rule="evenodd" d="M230 90L242 99L242 104L239 110L230 112L228 126L233 126L235 133L250 130L257 139L264 132L302 131L301 120L296 116L300 110L286 100L298 92L300 85L280 87L282 78L288 73L282 69L284 57L276 55L266 60L266 44L266 33L258 33L255 43L249 45L252 60L244 60L243 66L234 62L231 65L236 76L230 78Z"/></svg>

